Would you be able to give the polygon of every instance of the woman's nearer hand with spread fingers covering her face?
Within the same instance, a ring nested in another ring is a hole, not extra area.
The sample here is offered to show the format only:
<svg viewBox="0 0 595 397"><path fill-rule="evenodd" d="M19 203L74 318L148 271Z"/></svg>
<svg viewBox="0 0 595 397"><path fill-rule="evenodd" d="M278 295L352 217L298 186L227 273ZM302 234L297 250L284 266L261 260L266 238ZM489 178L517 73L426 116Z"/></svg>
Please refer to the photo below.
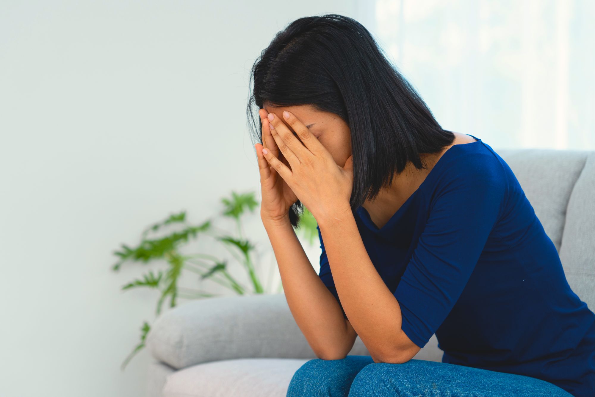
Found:
<svg viewBox="0 0 595 397"><path fill-rule="evenodd" d="M314 218L320 223L350 209L353 154L347 158L345 166L340 167L327 148L293 113L284 111L283 117L301 141L276 114L269 113L268 117L271 134L291 169L270 151L265 153L263 149L262 153Z"/></svg>

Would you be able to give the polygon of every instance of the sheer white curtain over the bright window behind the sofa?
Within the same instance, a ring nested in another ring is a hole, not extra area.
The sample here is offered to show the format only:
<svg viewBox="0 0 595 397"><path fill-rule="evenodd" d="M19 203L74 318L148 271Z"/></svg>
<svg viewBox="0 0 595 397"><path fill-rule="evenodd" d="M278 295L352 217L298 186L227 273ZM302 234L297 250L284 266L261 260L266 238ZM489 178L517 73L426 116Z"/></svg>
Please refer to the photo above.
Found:
<svg viewBox="0 0 595 397"><path fill-rule="evenodd" d="M593 0L357 0L445 129L494 149L593 150Z"/></svg>

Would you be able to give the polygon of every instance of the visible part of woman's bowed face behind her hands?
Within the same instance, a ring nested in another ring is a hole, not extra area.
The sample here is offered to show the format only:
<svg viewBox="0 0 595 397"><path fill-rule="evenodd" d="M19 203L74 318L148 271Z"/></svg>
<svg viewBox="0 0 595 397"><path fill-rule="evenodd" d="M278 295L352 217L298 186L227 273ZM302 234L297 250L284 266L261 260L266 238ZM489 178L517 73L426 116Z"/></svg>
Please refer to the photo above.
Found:
<svg viewBox="0 0 595 397"><path fill-rule="evenodd" d="M341 167L345 166L347 158L351 156L351 133L347 123L337 114L314 110L309 105L273 107L265 104L264 109L267 114L276 114L290 131L293 129L285 122L283 111L287 110L293 113L328 150L335 163ZM293 135L297 137L295 131L293 131Z"/></svg>

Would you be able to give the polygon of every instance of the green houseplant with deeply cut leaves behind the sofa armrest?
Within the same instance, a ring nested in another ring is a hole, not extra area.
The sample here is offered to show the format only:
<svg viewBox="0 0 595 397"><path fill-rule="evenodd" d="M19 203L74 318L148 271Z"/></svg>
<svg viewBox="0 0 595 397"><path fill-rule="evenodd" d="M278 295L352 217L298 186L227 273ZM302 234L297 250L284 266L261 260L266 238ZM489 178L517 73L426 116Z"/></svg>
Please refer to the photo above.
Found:
<svg viewBox="0 0 595 397"><path fill-rule="evenodd" d="M221 199L223 211L219 216L233 219L236 231L231 233L214 225L212 218L198 225L190 224L186 218L186 211L173 213L166 219L145 228L140 235L140 242L133 247L121 244L121 248L114 250L118 257L117 263L112 265L113 271L118 271L126 262L136 262L148 265L151 262L161 262L162 269L145 271L139 278L130 281L122 290L138 288L152 289L158 293L155 315L161 314L163 305L173 308L179 299L201 299L217 296L217 294L198 289L181 287L180 279L185 273L198 274L199 280L209 280L220 284L236 294L266 293L261 279L255 269L252 256L255 245L245 237L242 219L253 213L258 207L254 193L237 194L231 192L231 197ZM318 237L317 222L314 216L304 207L296 229L302 232L309 244L314 244ZM156 237L156 234L160 235ZM197 240L201 235L212 238L228 250L231 256L246 271L249 286L244 286L230 274L227 259L217 258L210 253L183 254L182 249ZM163 265L164 264L164 265ZM280 286L282 289L283 286ZM140 341L133 351L124 359L121 368L124 369L130 360L145 347L145 339L151 330L149 322L144 321L140 328Z"/></svg>

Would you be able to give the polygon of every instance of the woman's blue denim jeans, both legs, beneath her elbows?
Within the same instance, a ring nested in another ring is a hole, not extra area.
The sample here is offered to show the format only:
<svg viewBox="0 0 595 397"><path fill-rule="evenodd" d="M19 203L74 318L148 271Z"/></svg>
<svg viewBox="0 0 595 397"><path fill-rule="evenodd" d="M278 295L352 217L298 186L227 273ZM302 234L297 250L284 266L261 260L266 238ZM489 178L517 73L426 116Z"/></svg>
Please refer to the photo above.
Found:
<svg viewBox="0 0 595 397"><path fill-rule="evenodd" d="M303 396L572 397L553 383L523 375L419 359L388 364L355 355L305 362L287 390L287 397Z"/></svg>

